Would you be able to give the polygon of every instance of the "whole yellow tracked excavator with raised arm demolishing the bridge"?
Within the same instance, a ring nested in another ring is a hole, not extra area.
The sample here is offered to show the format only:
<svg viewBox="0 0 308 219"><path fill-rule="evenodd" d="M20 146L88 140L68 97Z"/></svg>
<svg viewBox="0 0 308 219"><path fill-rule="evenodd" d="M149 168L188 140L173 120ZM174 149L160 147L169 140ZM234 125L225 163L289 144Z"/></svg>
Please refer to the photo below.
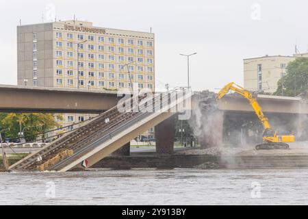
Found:
<svg viewBox="0 0 308 219"><path fill-rule="evenodd" d="M253 97L253 94L249 92L248 90L245 90L241 86L238 86L237 84L231 82L228 83L216 96L216 100L218 101L221 99L227 92L229 91L237 92L238 94L244 96L251 106L253 107L253 110L255 110L255 114L257 114L259 120L261 120L261 123L264 127L264 136L263 136L263 144L258 144L255 149L262 150L262 149L289 149L289 144L286 144L287 142L294 142L295 136L294 135L279 135L277 131L274 129L271 129L270 123L268 122L268 118L264 116L264 113L262 112L261 106L259 103L257 103L257 100Z"/></svg>

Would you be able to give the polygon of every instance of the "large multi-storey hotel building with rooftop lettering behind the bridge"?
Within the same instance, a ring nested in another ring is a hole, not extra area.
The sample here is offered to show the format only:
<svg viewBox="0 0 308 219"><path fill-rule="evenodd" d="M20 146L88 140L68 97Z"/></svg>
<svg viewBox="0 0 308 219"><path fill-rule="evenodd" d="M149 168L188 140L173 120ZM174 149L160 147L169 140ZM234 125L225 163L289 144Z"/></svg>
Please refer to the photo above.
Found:
<svg viewBox="0 0 308 219"><path fill-rule="evenodd" d="M120 90L138 83L155 90L152 33L58 21L18 26L17 43L18 85ZM93 115L62 116L64 127Z"/></svg>

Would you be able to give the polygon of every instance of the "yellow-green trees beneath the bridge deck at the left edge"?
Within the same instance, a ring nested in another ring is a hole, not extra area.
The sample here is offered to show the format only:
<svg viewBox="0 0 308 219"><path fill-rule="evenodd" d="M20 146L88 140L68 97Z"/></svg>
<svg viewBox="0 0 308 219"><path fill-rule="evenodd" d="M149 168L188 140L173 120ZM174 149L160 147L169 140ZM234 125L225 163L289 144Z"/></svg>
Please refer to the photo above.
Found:
<svg viewBox="0 0 308 219"><path fill-rule="evenodd" d="M5 138L18 138L18 132L23 131L24 136L29 136L26 140L33 141L39 133L53 129L56 126L57 123L55 123L53 114L0 114L1 129L10 128L10 131L5 131ZM42 137L44 138L44 136Z"/></svg>

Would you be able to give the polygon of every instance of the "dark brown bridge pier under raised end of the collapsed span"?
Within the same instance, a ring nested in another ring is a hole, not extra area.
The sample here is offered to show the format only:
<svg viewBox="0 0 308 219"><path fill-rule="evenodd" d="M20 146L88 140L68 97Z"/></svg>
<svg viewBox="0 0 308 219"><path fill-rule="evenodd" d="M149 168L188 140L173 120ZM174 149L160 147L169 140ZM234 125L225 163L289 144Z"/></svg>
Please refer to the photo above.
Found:
<svg viewBox="0 0 308 219"><path fill-rule="evenodd" d="M175 116L155 126L156 153L172 154L175 140Z"/></svg>

